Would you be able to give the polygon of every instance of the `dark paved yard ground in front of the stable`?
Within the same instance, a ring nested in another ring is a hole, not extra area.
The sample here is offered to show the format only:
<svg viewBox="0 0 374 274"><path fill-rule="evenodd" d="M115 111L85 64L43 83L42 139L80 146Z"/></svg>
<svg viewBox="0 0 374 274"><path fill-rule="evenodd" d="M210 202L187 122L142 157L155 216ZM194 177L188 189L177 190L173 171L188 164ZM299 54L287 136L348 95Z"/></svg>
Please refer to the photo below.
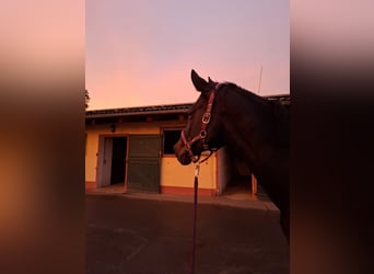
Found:
<svg viewBox="0 0 374 274"><path fill-rule="evenodd" d="M289 273L277 208L223 199L199 198L196 273ZM162 194L87 194L86 273L189 273L192 197L176 201Z"/></svg>

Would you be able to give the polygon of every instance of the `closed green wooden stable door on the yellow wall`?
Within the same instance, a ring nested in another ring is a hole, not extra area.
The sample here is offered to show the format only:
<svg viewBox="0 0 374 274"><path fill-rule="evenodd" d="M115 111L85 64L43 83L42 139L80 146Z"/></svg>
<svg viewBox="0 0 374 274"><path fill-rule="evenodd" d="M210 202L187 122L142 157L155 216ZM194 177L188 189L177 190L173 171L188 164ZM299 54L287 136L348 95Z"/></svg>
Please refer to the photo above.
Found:
<svg viewBox="0 0 374 274"><path fill-rule="evenodd" d="M160 193L160 135L130 135L128 192Z"/></svg>

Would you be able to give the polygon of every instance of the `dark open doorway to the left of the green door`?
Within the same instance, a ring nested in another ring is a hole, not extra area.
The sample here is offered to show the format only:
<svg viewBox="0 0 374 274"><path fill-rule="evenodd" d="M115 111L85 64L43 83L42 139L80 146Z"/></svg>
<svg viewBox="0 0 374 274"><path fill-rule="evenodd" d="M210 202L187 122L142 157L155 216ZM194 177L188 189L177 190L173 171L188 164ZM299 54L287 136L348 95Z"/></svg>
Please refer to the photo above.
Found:
<svg viewBox="0 0 374 274"><path fill-rule="evenodd" d="M127 158L126 136L102 136L100 138L97 187L124 185Z"/></svg>

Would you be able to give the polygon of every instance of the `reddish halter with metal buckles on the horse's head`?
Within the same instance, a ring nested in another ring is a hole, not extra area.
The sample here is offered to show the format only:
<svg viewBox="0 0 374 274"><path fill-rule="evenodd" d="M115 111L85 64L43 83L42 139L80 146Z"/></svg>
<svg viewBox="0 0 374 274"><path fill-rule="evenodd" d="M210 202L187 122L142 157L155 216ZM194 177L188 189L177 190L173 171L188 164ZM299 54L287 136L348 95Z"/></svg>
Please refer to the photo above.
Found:
<svg viewBox="0 0 374 274"><path fill-rule="evenodd" d="M180 133L180 138L185 145L185 149L186 151L188 151L188 155L191 159L192 162L197 162L199 160L200 157L197 157L197 156L194 156L194 152L192 152L192 145L198 141L198 140L203 140L203 145L202 145L202 148L204 150L209 150L209 145L206 144L206 138L207 138L207 127L208 127L208 124L210 122L210 118L211 118L211 112L212 112L212 107L213 107L213 102L214 102L214 98L215 98L215 93L219 89L220 84L219 83L215 83L214 85L214 89L210 92L210 95L209 95L209 100L208 100L208 105L207 105L207 109L206 109L206 112L204 114L202 115L202 118L201 118L201 129L200 129L200 133L198 135L196 135L191 140L187 140L187 137L186 137L186 133L185 133L185 129L182 130ZM212 152L212 149L210 150ZM208 160L209 157L207 157L203 161Z"/></svg>

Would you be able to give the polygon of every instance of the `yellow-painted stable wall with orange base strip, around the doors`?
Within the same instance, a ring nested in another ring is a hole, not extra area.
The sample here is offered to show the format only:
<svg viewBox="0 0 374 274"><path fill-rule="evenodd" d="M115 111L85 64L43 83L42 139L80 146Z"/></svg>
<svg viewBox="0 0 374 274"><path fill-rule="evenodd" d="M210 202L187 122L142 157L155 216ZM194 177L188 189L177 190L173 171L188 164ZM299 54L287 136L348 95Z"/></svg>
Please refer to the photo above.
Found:
<svg viewBox="0 0 374 274"><path fill-rule="evenodd" d="M85 182L86 187L95 187L96 165L100 136L120 135L160 135L163 128L182 128L183 122L149 122L116 124L112 133L108 124L86 126ZM161 192L187 194L192 193L195 165L182 165L174 156L161 157ZM217 190L217 158L213 155L200 167L199 192L202 195L215 195Z"/></svg>

